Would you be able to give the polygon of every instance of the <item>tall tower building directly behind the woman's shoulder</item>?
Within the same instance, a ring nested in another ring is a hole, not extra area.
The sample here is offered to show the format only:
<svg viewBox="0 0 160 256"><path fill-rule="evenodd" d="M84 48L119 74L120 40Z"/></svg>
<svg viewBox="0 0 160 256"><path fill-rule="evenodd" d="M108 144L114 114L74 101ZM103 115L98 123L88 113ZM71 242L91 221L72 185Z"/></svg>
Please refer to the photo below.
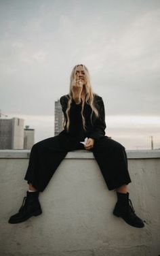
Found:
<svg viewBox="0 0 160 256"><path fill-rule="evenodd" d="M55 101L54 118L54 135L56 136L63 130L64 122L64 115L59 99L58 101Z"/></svg>

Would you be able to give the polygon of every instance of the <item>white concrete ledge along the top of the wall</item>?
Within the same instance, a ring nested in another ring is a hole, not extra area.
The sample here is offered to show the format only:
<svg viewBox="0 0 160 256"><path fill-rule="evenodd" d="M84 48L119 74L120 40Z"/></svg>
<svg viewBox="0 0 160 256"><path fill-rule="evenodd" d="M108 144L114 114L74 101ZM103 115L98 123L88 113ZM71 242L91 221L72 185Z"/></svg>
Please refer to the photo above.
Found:
<svg viewBox="0 0 160 256"><path fill-rule="evenodd" d="M0 150L1 158L29 158L31 150ZM160 158L160 150L126 150L127 159L152 159ZM74 150L69 152L66 159L94 159L92 152L87 150Z"/></svg>

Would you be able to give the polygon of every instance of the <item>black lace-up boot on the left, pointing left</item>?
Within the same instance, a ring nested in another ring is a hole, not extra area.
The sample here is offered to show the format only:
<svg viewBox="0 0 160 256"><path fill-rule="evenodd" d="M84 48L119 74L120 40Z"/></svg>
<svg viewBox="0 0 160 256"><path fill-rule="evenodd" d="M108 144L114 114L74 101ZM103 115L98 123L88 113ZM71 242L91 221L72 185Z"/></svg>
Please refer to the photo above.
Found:
<svg viewBox="0 0 160 256"><path fill-rule="evenodd" d="M37 216L42 213L41 205L39 203L39 191L28 192L26 191L26 197L24 197L22 206L18 213L9 218L8 223L15 224L26 221L32 216Z"/></svg>

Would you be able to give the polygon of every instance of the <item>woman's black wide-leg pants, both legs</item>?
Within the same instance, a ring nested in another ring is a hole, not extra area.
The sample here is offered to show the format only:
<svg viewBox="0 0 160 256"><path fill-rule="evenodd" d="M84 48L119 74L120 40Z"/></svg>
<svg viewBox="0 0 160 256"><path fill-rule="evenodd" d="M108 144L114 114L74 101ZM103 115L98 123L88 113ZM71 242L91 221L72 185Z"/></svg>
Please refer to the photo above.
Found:
<svg viewBox="0 0 160 256"><path fill-rule="evenodd" d="M38 191L43 191L66 154L78 149L85 148L79 141L64 134L37 142L31 149L24 180L28 184L32 183ZM90 151L94 154L108 190L131 182L125 148L119 142L104 136L95 140L94 148Z"/></svg>

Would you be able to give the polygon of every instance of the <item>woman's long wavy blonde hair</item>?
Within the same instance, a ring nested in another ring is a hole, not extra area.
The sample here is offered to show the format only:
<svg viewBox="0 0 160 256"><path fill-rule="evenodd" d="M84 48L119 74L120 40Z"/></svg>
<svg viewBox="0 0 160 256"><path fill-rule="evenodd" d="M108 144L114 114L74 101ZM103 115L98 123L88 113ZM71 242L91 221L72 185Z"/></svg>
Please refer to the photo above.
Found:
<svg viewBox="0 0 160 256"><path fill-rule="evenodd" d="M98 116L99 116L98 115L98 110L94 106L94 92L92 91L92 86L91 86L90 77L89 77L89 71L88 71L87 67L85 67L85 65L83 65L83 64L75 65L75 67L73 67L73 71L71 72L70 92L68 94L68 106L66 108L67 122L66 122L66 118L64 118L64 127L66 125L67 131L68 131L69 125L70 125L69 110L71 108L71 102L73 101L73 93L71 91L71 87L73 85L73 82L75 82L76 71L77 71L77 67L79 67L79 66L83 67L83 70L85 72L85 81L86 81L85 82L85 99L82 100L82 108L81 108L83 129L86 131L85 118L83 116L83 110L84 110L85 102L92 108L92 114L91 114L91 117L90 117L91 118L91 123L92 123L92 115L93 114L95 114L96 118L98 118Z"/></svg>

